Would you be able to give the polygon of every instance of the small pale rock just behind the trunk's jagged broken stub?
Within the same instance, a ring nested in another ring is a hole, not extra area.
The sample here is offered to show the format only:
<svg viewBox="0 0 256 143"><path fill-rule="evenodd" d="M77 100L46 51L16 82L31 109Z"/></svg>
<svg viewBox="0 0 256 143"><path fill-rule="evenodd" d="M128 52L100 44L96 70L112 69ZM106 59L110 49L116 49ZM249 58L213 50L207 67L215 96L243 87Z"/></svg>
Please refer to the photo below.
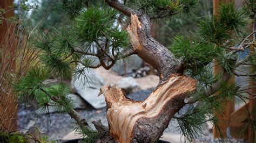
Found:
<svg viewBox="0 0 256 143"><path fill-rule="evenodd" d="M117 82L117 86L125 91L126 94L140 90L139 84L133 77L124 77L121 81Z"/></svg>

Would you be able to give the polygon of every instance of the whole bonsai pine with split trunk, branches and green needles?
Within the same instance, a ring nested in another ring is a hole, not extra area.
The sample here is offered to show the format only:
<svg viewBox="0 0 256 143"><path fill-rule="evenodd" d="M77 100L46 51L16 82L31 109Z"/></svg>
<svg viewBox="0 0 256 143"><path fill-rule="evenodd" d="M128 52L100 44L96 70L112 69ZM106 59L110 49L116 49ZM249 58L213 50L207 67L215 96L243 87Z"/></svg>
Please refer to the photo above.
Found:
<svg viewBox="0 0 256 143"><path fill-rule="evenodd" d="M238 75L235 69L240 65L255 68L254 52L237 60L237 53L254 48L255 31L249 32L247 26L250 16L255 17L255 7L253 1L246 1L244 9L235 9L233 3L220 5L219 16L202 18L193 37L177 35L169 47L151 36L153 20L189 15L197 4L197 0L63 0L59 3L67 16L63 26L52 33L34 35L33 45L41 50L42 66L31 69L16 83L19 97L36 99L42 111L53 106L69 113L85 140L91 142L156 142L171 119L178 120L189 141L203 133L206 121L212 121L220 131L215 113L223 110L221 103L233 96L248 98L242 92L255 88L227 84ZM127 23L126 30L121 30ZM132 54L157 69L159 84L143 102L127 98L116 85L102 87L99 94L105 96L109 126L92 121L97 131L73 109L74 101L66 96L68 85L62 82L51 88L43 82L52 74L62 81L70 76L79 78L90 68L102 66L108 70L117 60ZM96 56L99 63L86 55ZM223 69L218 75L212 73L213 60ZM239 76L254 77L254 72ZM193 105L183 115L175 116L186 104ZM248 122L255 128L252 112Z"/></svg>

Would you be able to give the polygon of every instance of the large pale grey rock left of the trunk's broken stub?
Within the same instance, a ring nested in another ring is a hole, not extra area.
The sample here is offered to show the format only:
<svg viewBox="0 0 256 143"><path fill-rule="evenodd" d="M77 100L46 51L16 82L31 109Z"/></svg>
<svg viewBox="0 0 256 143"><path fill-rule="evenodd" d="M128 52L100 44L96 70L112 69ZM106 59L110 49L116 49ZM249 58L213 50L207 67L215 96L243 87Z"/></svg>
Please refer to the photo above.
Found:
<svg viewBox="0 0 256 143"><path fill-rule="evenodd" d="M78 68L82 68L82 65L79 65ZM103 85L105 85L104 78L94 70L85 70L83 75L80 75L79 78L73 81L77 94L95 109L104 108L106 105L104 96L98 96L99 89Z"/></svg>

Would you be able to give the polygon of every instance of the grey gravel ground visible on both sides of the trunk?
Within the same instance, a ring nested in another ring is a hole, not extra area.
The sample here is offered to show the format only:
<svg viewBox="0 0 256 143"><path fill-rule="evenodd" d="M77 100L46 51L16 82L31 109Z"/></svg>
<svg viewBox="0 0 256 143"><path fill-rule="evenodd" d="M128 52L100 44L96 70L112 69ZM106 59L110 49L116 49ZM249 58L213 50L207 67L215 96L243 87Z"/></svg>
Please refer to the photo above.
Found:
<svg viewBox="0 0 256 143"><path fill-rule="evenodd" d="M134 99L136 101L143 101L152 91L150 90L141 90L136 93L127 95L129 98ZM189 105L184 106L183 109L180 110L179 113L185 113L189 108ZM104 125L107 125L107 120L105 116L105 109L100 110L77 110L82 116L89 120L102 120ZM50 116L50 120L49 120ZM178 113L176 116L179 116ZM33 120L36 120L36 126L43 132L44 135L48 135L50 139L60 140L66 134L72 131L73 120L66 113L50 113L50 115L41 115L37 116L36 114L36 106L28 106L25 107L23 104L19 106L18 109L18 125L20 130L24 130L29 123ZM171 120L169 127L166 128L165 132L170 133L180 133L178 123L176 120ZM198 137L196 142L219 142L217 139L214 139L212 133L210 133L205 128L203 137ZM231 139L227 140L227 142L245 142L243 140Z"/></svg>

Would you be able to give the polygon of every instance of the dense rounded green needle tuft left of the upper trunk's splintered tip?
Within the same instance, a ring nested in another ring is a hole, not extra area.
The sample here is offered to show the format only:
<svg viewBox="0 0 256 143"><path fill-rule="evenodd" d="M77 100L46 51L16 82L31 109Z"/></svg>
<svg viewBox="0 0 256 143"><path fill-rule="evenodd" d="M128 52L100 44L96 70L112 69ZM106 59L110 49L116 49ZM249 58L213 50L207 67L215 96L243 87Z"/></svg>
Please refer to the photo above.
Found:
<svg viewBox="0 0 256 143"><path fill-rule="evenodd" d="M98 41L102 37L110 38L116 11L110 8L92 7L82 12L73 22L73 31L83 42ZM90 47L88 47L90 48Z"/></svg>

